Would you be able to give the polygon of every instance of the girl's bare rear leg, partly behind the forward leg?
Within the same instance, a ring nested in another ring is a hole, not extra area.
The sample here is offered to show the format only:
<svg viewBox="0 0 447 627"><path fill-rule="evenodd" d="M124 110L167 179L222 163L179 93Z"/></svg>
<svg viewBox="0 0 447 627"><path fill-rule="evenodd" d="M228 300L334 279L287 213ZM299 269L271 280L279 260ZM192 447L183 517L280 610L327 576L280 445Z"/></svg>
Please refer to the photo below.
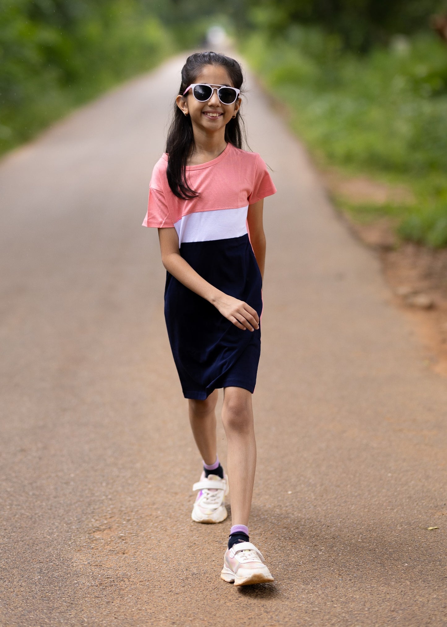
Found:
<svg viewBox="0 0 447 627"><path fill-rule="evenodd" d="M218 391L214 390L204 401L188 399L189 421L197 448L205 464L216 461L216 414Z"/></svg>

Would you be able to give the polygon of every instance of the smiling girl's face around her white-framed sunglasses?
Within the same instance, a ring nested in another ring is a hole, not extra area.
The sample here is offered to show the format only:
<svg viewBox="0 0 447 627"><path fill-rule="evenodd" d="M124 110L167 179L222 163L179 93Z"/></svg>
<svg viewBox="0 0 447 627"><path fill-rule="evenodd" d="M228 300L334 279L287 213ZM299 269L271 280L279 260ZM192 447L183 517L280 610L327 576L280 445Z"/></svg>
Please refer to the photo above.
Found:
<svg viewBox="0 0 447 627"><path fill-rule="evenodd" d="M195 77L194 83L207 83L212 87L219 85L229 85L234 87L232 80L222 65L205 65L202 71ZM193 95L192 89L184 96L177 96L177 106L183 113L190 115L194 127L205 132L225 131L225 125L232 119L239 110L241 99L237 98L232 105L223 105L217 97L217 90L213 90L210 100L198 102ZM216 115L217 114L217 115Z"/></svg>

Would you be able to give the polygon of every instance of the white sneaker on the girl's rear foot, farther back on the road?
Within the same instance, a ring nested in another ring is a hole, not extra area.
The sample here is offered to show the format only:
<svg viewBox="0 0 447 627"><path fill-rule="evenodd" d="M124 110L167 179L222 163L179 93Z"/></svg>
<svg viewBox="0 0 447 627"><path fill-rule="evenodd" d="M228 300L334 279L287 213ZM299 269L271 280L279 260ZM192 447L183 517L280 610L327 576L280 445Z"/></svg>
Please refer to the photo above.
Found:
<svg viewBox="0 0 447 627"><path fill-rule="evenodd" d="M200 490L192 508L191 518L195 522L222 522L228 516L223 498L229 493L227 475L221 479L217 475L205 477L202 472L200 481L194 483L192 489Z"/></svg>

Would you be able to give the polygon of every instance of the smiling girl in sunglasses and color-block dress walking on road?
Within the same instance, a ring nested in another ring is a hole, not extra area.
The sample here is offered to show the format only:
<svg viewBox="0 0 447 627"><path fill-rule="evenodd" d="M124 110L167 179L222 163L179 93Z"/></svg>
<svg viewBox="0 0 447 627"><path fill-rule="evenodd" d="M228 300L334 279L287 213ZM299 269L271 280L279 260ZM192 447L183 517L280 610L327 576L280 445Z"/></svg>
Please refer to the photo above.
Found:
<svg viewBox="0 0 447 627"><path fill-rule="evenodd" d="M242 149L242 81L239 63L228 56L188 56L143 221L158 228L168 338L203 458L192 519L225 520L231 488L233 525L221 577L235 586L273 581L249 541L248 524L256 466L252 394L260 356L262 207L276 189L260 155ZM221 387L228 477L217 456Z"/></svg>

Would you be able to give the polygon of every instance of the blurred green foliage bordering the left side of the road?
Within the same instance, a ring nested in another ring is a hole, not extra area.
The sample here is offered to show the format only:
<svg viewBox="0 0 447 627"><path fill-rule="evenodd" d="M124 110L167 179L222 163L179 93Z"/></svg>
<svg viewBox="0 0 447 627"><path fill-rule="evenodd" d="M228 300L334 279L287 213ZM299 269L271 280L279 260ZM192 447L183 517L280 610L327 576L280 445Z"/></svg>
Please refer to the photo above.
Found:
<svg viewBox="0 0 447 627"><path fill-rule="evenodd" d="M0 41L1 152L175 50L136 0L14 0Z"/></svg>

